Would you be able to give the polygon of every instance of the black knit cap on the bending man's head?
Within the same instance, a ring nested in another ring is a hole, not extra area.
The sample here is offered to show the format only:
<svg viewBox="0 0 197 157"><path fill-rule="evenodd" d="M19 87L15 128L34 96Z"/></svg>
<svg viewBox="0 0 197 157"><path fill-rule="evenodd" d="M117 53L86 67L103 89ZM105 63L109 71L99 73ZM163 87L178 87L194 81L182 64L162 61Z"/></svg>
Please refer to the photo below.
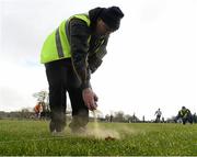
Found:
<svg viewBox="0 0 197 157"><path fill-rule="evenodd" d="M119 29L120 20L124 18L124 13L118 7L104 8L100 18L103 22L113 31Z"/></svg>

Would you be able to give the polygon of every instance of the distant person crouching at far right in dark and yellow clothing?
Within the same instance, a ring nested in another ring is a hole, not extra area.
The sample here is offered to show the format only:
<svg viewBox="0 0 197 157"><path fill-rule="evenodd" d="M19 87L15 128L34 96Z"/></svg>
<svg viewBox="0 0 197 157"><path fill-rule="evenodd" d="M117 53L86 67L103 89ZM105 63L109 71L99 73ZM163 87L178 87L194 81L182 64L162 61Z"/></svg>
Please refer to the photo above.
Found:
<svg viewBox="0 0 197 157"><path fill-rule="evenodd" d="M189 122L190 124L193 124L193 115L190 113L190 110L188 110L185 106L182 106L182 110L178 111L176 121L178 119L182 119L184 125L186 124L186 122Z"/></svg>

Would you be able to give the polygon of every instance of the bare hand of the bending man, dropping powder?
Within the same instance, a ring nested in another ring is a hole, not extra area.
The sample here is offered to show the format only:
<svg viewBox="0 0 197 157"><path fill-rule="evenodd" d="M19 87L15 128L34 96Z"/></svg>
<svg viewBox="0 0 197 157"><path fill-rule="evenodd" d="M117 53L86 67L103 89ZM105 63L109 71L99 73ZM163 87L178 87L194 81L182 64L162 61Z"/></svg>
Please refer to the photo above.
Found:
<svg viewBox="0 0 197 157"><path fill-rule="evenodd" d="M89 108L89 110L93 111L96 110L97 104L97 96L92 91L91 88L85 88L82 91L82 97L85 105Z"/></svg>

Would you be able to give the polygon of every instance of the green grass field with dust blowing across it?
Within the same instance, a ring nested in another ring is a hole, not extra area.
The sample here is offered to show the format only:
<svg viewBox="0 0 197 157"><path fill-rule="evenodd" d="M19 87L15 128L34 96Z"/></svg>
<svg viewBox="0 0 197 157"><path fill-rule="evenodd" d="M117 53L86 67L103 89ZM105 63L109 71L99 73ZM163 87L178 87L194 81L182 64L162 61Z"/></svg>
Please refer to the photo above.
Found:
<svg viewBox="0 0 197 157"><path fill-rule="evenodd" d="M88 131L53 136L46 121L1 120L0 156L197 156L196 124L92 122Z"/></svg>

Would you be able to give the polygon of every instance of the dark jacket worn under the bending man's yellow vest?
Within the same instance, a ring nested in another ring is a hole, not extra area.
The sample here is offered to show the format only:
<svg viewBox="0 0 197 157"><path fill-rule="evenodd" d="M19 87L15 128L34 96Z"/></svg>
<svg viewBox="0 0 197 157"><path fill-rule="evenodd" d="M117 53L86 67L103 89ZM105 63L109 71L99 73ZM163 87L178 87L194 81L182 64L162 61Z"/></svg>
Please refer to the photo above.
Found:
<svg viewBox="0 0 197 157"><path fill-rule="evenodd" d="M78 78L81 80L81 88L91 87L90 76L102 64L102 58L106 55L108 35L96 36L94 34L96 20L102 8L89 11L91 25L80 19L69 21L69 38L71 47L71 60ZM91 35L90 43L88 42Z"/></svg>

